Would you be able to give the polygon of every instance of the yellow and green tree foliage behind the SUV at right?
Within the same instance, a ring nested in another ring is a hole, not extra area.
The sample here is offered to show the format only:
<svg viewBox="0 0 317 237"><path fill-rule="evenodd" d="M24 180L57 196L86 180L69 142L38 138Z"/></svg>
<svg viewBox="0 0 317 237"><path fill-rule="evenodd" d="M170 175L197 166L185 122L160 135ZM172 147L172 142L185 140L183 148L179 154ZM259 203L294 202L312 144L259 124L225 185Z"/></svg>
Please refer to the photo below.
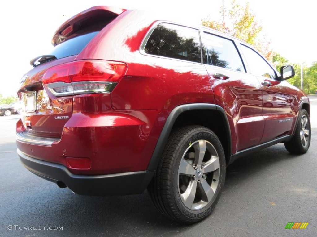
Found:
<svg viewBox="0 0 317 237"><path fill-rule="evenodd" d="M265 58L273 61L277 71L280 71L281 66L293 65L295 76L287 81L301 88L301 65L291 64L280 54L273 53L270 48L271 41L267 39L267 35L262 34L262 27L257 24L255 14L249 9L249 4L241 6L233 0L231 6L230 10L228 10L224 6L223 0L223 6L220 9L222 19L211 21L205 18L201 21L202 25L229 34L253 45ZM314 62L310 67L303 66L303 90L307 94L312 94L315 93L316 89L317 62Z"/></svg>

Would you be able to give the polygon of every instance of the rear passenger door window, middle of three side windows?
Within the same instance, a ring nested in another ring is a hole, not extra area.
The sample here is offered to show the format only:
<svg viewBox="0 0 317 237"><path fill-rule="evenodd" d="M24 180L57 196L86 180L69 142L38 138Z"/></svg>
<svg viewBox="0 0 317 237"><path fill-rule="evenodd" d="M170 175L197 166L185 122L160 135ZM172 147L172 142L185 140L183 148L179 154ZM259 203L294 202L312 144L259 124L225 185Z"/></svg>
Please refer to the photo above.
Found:
<svg viewBox="0 0 317 237"><path fill-rule="evenodd" d="M202 43L204 64L245 71L240 55L232 40L204 32Z"/></svg>

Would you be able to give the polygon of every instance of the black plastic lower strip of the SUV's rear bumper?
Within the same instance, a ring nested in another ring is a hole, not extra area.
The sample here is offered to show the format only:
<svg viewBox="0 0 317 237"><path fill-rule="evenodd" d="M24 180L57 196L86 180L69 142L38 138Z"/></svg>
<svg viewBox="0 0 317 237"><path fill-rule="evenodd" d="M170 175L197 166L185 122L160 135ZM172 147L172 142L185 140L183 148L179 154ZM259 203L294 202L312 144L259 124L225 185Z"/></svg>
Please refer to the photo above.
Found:
<svg viewBox="0 0 317 237"><path fill-rule="evenodd" d="M56 163L30 157L19 149L21 163L32 173L59 186L66 185L74 193L91 196L129 195L142 193L155 171L137 171L107 175L76 175Z"/></svg>

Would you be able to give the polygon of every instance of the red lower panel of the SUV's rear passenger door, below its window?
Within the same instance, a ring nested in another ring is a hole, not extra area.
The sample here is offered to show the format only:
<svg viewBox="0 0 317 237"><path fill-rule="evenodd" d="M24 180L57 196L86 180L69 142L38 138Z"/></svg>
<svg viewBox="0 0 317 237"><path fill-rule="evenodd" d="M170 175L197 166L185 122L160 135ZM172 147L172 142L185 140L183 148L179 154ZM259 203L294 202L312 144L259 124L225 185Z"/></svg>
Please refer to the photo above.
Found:
<svg viewBox="0 0 317 237"><path fill-rule="evenodd" d="M255 76L234 70L224 70L206 65L215 95L215 103L221 105L228 116L232 136L232 151L257 145L263 134L261 84ZM215 79L214 74L229 79Z"/></svg>

